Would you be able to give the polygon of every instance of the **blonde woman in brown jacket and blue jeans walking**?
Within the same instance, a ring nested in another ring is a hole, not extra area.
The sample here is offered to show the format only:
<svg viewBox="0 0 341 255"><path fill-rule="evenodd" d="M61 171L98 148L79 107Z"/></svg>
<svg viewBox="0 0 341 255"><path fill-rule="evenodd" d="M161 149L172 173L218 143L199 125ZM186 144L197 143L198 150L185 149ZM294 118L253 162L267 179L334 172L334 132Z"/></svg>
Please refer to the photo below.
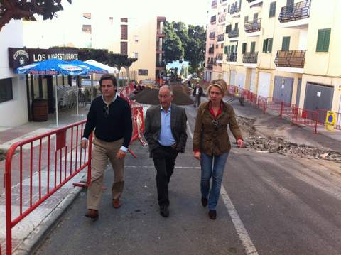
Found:
<svg viewBox="0 0 341 255"><path fill-rule="evenodd" d="M232 106L222 101L226 89L224 80L213 80L210 83L207 88L209 101L200 104L197 109L193 133L193 155L200 159L201 165L201 203L203 207L208 204L210 219L217 217L216 206L222 176L231 149L227 125L238 146L242 147L244 143Z"/></svg>

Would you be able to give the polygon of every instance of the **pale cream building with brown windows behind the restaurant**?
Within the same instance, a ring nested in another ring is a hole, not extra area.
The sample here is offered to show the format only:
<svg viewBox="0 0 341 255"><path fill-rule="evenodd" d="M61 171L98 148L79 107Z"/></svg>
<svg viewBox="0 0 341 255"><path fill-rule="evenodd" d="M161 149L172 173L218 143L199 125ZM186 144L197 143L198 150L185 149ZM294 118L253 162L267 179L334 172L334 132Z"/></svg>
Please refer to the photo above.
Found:
<svg viewBox="0 0 341 255"><path fill-rule="evenodd" d="M70 26L72 21L72 26ZM28 48L70 46L107 49L137 60L129 67L131 79L155 80L163 70L165 17L90 9L72 1L52 21L24 21L23 45ZM38 38L38 40L37 40ZM120 77L128 73L121 69Z"/></svg>

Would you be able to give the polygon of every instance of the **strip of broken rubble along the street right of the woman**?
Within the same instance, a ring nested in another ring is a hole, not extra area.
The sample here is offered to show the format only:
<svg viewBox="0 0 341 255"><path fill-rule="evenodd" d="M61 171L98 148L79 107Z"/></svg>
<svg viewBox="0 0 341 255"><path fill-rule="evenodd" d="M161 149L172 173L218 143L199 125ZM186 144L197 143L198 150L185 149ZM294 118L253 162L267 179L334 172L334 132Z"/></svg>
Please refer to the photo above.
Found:
<svg viewBox="0 0 341 255"><path fill-rule="evenodd" d="M244 133L247 148L253 148L259 153L278 153L291 155L295 158L325 159L341 163L340 151L328 151L325 148L315 148L305 144L291 143L282 138L271 138L259 134L253 126L254 120L238 117L239 127Z"/></svg>

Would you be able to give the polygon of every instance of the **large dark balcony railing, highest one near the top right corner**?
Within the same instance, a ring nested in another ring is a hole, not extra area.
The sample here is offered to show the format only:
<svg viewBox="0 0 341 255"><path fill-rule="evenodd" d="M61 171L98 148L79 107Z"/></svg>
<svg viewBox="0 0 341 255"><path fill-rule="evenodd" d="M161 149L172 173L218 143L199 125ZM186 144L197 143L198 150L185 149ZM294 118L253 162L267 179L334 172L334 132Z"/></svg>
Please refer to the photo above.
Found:
<svg viewBox="0 0 341 255"><path fill-rule="evenodd" d="M297 21L303 18L310 17L310 0L301 1L296 4L291 4L288 6L283 6L281 8L281 13L279 13L278 20L280 23L285 23L289 21Z"/></svg>

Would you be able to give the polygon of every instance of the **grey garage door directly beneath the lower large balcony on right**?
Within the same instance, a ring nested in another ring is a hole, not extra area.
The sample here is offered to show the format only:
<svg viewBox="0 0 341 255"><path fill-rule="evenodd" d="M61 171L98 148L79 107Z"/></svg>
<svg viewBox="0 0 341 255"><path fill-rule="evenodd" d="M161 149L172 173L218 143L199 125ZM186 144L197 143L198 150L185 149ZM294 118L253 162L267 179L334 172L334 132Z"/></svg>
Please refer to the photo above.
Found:
<svg viewBox="0 0 341 255"><path fill-rule="evenodd" d="M274 92L272 97L280 101L291 103L293 96L293 78L275 76Z"/></svg>

